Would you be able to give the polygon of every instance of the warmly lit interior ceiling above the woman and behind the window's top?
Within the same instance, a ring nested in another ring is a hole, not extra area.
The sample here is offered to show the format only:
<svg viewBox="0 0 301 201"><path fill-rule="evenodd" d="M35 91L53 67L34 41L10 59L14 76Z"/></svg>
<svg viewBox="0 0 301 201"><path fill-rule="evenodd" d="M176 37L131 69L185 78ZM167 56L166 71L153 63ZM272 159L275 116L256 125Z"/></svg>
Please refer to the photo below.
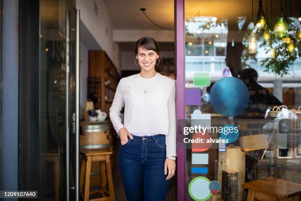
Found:
<svg viewBox="0 0 301 201"><path fill-rule="evenodd" d="M140 8L146 8L149 17L162 27L174 28L174 0L104 0L114 29L159 30ZM254 1L253 15L258 11L259 0ZM278 16L280 0L266 0L263 8L267 16ZM291 6L289 6L291 2ZM297 17L301 11L301 0L283 0L284 10L291 9L291 16ZM238 16L252 16L252 0L185 0L185 18L194 16L199 11L201 16L227 17L237 20Z"/></svg>

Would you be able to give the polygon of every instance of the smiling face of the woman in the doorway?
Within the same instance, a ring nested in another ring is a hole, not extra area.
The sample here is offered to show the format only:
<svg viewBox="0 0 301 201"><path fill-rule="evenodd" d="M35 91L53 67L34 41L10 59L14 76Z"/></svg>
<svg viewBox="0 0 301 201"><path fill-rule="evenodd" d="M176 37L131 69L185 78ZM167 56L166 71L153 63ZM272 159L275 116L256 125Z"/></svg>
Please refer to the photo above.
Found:
<svg viewBox="0 0 301 201"><path fill-rule="evenodd" d="M139 65L143 70L153 70L159 55L153 50L145 50L141 47L138 48L138 55L136 59L139 61Z"/></svg>

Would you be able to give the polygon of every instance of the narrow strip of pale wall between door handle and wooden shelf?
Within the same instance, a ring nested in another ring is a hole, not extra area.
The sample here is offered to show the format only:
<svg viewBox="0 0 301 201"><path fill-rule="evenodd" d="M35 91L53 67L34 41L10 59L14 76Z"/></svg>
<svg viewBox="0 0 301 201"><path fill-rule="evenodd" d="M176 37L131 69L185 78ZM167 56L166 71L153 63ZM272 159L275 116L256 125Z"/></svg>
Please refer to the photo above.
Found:
<svg viewBox="0 0 301 201"><path fill-rule="evenodd" d="M83 111L85 111L86 108L86 101L87 101L87 92L88 92L88 84L87 84L87 78L88 78L88 62L89 62L89 55L88 55L88 49L83 45L80 44L80 118L83 118Z"/></svg>

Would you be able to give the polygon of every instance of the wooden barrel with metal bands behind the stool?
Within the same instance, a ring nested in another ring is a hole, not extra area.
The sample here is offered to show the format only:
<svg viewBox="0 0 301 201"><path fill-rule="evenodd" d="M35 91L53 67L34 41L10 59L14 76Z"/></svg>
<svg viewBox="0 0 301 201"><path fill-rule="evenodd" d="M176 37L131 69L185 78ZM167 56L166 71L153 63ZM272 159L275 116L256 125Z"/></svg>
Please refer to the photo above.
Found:
<svg viewBox="0 0 301 201"><path fill-rule="evenodd" d="M81 122L80 148L81 149L101 149L107 148L113 151L113 140L110 126L107 121L103 122ZM113 155L111 155L111 165L113 165ZM100 163L92 162L90 186L100 187Z"/></svg>

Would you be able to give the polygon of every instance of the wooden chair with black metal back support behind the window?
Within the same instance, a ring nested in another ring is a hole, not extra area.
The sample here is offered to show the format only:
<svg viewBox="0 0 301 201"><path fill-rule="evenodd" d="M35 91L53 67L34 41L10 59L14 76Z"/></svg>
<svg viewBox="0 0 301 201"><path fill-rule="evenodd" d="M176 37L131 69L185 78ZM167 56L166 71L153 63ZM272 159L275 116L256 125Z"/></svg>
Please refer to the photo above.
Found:
<svg viewBox="0 0 301 201"><path fill-rule="evenodd" d="M247 167L247 177L250 182L244 183L248 189L247 201L300 201L301 184L267 177L254 181L252 167L255 150L266 149L269 142L266 134L255 134L240 137L241 151L249 151L251 163Z"/></svg>

